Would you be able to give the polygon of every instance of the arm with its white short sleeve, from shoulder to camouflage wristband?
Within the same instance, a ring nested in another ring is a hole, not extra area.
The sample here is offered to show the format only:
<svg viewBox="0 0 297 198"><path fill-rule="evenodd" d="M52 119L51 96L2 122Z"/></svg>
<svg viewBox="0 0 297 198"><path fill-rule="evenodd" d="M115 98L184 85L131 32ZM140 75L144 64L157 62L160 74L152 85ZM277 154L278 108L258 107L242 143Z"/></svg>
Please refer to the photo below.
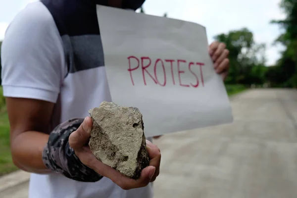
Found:
<svg viewBox="0 0 297 198"><path fill-rule="evenodd" d="M48 172L41 156L65 76L64 63L62 41L49 10L41 2L27 5L9 24L1 46L12 158L23 170Z"/></svg>

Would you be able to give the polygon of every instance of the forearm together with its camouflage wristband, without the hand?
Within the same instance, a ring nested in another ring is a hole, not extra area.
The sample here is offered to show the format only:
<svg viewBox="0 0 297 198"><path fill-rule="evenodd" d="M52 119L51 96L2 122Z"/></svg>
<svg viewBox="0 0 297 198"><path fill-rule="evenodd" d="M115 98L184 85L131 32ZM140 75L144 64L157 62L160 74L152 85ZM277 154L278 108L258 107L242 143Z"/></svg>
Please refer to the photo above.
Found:
<svg viewBox="0 0 297 198"><path fill-rule="evenodd" d="M27 131L11 139L15 165L33 173L60 173L81 182L97 182L102 176L83 164L69 146L69 136L84 119L69 119L56 126L50 135Z"/></svg>

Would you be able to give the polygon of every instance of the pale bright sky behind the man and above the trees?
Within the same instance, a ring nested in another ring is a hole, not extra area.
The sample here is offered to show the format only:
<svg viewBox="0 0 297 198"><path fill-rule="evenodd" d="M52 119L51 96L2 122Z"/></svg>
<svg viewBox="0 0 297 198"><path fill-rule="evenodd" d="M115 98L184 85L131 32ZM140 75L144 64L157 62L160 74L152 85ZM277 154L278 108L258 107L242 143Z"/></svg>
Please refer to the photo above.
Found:
<svg viewBox="0 0 297 198"><path fill-rule="evenodd" d="M28 3L35 0L0 0L0 40L14 16ZM169 2L169 3L168 3ZM257 43L267 46L267 65L273 65L283 50L273 41L282 33L277 26L270 24L272 19L283 19L279 8L280 0L146 0L147 14L191 21L206 28L208 42L213 37L243 27L253 32Z"/></svg>

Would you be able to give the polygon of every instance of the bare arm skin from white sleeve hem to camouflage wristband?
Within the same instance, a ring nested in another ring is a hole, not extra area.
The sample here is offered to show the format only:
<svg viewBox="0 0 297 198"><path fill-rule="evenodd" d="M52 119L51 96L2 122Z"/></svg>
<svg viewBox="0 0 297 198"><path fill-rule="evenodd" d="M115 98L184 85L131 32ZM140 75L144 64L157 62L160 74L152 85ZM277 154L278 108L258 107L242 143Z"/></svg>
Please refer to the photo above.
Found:
<svg viewBox="0 0 297 198"><path fill-rule="evenodd" d="M16 166L28 172L51 172L43 163L42 153L49 135L54 103L37 100L6 98L10 122L10 147Z"/></svg>

